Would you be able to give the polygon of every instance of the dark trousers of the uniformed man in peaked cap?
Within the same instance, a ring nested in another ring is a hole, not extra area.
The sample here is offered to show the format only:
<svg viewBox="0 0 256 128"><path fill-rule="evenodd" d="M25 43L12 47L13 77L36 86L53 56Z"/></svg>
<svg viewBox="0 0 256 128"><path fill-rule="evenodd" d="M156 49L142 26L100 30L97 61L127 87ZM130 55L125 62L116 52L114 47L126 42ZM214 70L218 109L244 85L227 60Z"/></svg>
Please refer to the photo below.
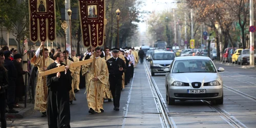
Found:
<svg viewBox="0 0 256 128"><path fill-rule="evenodd" d="M122 79L110 79L110 90L113 96L114 107L120 106Z"/></svg>

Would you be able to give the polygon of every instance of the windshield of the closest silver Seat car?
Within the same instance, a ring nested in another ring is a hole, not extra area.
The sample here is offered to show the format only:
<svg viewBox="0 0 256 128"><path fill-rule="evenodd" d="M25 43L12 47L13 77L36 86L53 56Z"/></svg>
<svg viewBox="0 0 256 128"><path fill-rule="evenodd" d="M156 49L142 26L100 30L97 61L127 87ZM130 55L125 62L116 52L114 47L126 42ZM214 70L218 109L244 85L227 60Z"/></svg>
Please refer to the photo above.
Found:
<svg viewBox="0 0 256 128"><path fill-rule="evenodd" d="M216 73L210 60L176 60L172 73L212 72Z"/></svg>

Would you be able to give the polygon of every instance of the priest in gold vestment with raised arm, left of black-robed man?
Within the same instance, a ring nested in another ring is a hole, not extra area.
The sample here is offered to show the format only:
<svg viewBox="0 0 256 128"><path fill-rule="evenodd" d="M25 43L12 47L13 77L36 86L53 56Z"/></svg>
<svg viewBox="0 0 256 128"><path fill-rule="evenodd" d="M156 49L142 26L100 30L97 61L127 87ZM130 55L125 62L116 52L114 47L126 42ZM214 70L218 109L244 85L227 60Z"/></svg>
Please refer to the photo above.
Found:
<svg viewBox="0 0 256 128"><path fill-rule="evenodd" d="M45 56L45 67L43 65L43 56L40 55L41 48L45 49L45 53L43 54ZM40 72L46 71L47 67L54 62L53 59L48 57L48 53L48 49L44 48L44 42L41 42L40 47L35 52L35 56L31 59L31 64L38 67L38 74ZM44 82L46 83L46 81L44 81L42 77L39 77L38 74L36 80L34 109L40 110L40 112L42 113L41 117L45 117L47 110L48 87L46 84L44 84Z"/></svg>

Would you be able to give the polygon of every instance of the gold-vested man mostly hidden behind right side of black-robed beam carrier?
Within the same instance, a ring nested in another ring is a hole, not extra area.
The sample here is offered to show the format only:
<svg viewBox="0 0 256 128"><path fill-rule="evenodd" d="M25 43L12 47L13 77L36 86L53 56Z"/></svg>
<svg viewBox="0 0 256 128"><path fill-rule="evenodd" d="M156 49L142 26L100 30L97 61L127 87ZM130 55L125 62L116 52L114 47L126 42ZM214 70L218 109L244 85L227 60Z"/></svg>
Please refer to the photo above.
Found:
<svg viewBox="0 0 256 128"><path fill-rule="evenodd" d="M70 65L70 63L73 63L73 61L69 60L69 55L68 55L68 51L63 51L63 56L65 58L65 60L63 60L63 63L66 64L66 65ZM67 63L66 63L66 59L67 59ZM76 100L76 97L75 97L75 92L74 92L74 89L75 89L75 82L74 82L74 69L76 68L73 68L73 69L69 69L70 72L71 72L71 76L72 76L72 84L71 84L71 87L72 89L69 91L69 101L70 101L70 104L73 103L73 100Z"/></svg>

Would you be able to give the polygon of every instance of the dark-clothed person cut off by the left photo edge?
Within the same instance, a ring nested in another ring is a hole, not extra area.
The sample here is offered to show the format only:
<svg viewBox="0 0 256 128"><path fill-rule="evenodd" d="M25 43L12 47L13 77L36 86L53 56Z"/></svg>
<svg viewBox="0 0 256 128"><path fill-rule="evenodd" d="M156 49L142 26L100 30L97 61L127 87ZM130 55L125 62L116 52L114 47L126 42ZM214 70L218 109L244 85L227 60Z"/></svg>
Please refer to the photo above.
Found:
<svg viewBox="0 0 256 128"><path fill-rule="evenodd" d="M7 76L7 70L4 67L4 56L3 51L0 51L0 122L1 127L6 128L6 92L8 87L8 76Z"/></svg>

